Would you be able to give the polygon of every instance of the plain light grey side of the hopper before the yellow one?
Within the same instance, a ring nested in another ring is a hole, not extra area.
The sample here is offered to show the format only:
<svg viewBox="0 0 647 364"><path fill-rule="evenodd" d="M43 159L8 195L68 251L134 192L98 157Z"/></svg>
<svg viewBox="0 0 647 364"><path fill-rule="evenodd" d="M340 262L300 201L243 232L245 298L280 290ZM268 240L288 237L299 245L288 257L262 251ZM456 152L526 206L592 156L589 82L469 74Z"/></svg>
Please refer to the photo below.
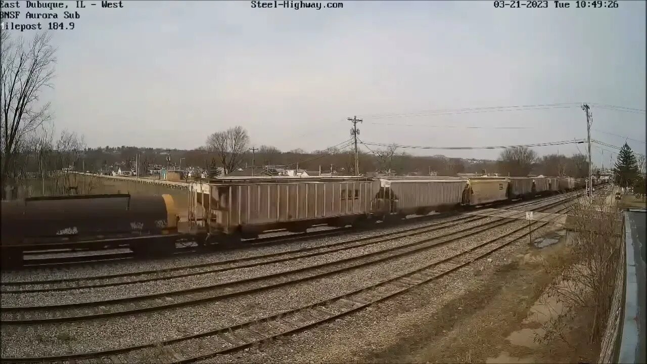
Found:
<svg viewBox="0 0 647 364"><path fill-rule="evenodd" d="M467 185L466 179L380 179L380 186L390 188L397 201L390 212L459 205ZM389 198L389 194L386 194Z"/></svg>

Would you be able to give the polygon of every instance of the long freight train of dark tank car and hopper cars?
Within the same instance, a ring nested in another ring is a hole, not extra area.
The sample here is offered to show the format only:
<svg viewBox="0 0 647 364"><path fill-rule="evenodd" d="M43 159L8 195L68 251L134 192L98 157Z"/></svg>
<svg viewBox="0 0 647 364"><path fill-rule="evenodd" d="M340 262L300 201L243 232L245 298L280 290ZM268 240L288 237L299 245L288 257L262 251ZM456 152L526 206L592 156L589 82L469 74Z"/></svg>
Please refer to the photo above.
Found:
<svg viewBox="0 0 647 364"><path fill-rule="evenodd" d="M223 177L190 188L182 227L170 195L2 201L0 247L3 262L48 249L127 246L146 255L169 253L186 238L218 244L276 229L364 225L584 187L584 180L571 177Z"/></svg>

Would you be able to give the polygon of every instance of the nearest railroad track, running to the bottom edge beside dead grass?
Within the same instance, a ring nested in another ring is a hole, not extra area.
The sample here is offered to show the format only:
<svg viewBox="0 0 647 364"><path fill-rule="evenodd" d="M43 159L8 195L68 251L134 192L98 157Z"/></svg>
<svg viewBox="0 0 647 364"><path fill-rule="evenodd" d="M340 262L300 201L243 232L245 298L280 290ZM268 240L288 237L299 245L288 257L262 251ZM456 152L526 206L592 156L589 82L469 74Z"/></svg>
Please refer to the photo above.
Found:
<svg viewBox="0 0 647 364"><path fill-rule="evenodd" d="M555 212L562 212L569 209L569 207L570 205L567 205ZM139 363L153 360L166 363L193 363L213 358L219 354L229 354L244 348L254 347L275 337L294 334L318 324L338 319L349 313L362 310L371 304L395 297L411 288L442 277L455 269L467 266L471 262L527 236L527 234L547 225L547 223L549 222L531 222L530 229L527 224L520 224L520 227L508 233L461 249L461 251L449 258L431 262L426 266L411 271L402 272L391 279L365 286L344 295L338 295L332 299L269 315L254 321L146 345L61 356L3 358L3 361L6 363L34 361Z"/></svg>

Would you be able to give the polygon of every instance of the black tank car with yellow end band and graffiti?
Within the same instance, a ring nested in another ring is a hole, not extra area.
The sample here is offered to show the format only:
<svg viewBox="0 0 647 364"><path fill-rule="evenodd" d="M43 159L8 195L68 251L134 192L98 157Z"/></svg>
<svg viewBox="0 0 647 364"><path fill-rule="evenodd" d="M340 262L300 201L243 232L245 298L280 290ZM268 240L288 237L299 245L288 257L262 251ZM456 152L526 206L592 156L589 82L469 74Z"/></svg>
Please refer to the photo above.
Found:
<svg viewBox="0 0 647 364"><path fill-rule="evenodd" d="M173 198L129 194L46 196L2 201L3 261L24 251L131 247L156 253L175 247Z"/></svg>

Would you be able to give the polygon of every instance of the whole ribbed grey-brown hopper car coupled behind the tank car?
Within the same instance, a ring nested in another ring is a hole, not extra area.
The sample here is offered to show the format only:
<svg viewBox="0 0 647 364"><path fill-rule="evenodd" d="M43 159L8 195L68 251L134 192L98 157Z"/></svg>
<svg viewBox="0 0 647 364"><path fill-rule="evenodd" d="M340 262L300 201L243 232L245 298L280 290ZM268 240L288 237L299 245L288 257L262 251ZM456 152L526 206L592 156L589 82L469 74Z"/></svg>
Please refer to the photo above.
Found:
<svg viewBox="0 0 647 364"><path fill-rule="evenodd" d="M209 186L208 234L255 238L265 231L302 232L313 225L345 226L371 214L373 179L218 181Z"/></svg>

